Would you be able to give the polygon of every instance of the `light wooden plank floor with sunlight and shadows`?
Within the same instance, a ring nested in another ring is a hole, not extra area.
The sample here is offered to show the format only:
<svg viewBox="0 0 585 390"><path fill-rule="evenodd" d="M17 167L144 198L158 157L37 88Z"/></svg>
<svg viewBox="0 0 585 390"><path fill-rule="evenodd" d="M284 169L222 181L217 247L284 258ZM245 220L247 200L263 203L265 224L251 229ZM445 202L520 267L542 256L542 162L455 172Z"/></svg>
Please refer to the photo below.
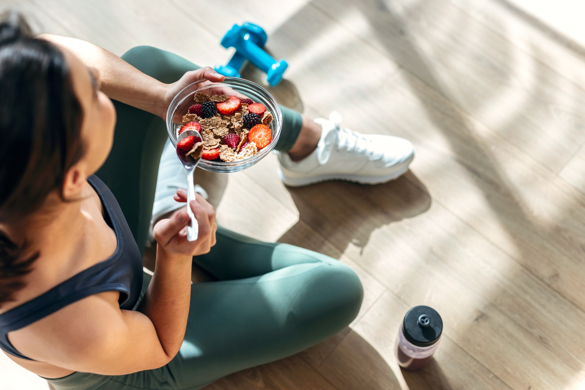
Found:
<svg viewBox="0 0 585 390"><path fill-rule="evenodd" d="M411 172L371 187L286 188L273 155L201 174L220 223L338 258L365 289L343 332L208 390L585 388L585 40L582 23L563 24L583 16L579 3L0 0L46 32L201 65L229 59L219 40L232 23L256 22L290 64L270 88L281 103L335 109L351 129L417 147ZM242 194L268 217L232 213ZM433 363L408 373L394 339L418 304L442 314L445 332ZM0 378L2 389L46 386L1 354Z"/></svg>

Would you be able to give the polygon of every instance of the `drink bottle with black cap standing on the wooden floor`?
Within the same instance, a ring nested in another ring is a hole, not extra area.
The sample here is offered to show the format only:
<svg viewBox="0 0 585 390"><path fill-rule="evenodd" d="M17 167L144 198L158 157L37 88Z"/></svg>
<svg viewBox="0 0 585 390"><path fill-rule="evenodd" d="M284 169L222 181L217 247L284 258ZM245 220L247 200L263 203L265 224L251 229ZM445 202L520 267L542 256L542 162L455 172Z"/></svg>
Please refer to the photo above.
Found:
<svg viewBox="0 0 585 390"><path fill-rule="evenodd" d="M408 310L398 329L396 354L398 364L405 370L424 367L441 340L443 320L429 306L415 306Z"/></svg>

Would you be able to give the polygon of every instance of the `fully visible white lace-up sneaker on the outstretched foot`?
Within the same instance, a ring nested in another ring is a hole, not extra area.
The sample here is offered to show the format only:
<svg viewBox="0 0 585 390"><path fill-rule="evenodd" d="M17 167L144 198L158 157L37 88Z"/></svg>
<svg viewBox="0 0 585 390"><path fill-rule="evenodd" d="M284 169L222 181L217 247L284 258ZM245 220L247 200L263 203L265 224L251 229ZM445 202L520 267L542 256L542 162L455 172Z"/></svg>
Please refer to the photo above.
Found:
<svg viewBox="0 0 585 390"><path fill-rule="evenodd" d="M378 184L398 178L414 158L414 146L400 137L370 135L339 127L341 116L315 119L322 126L317 148L300 161L278 153L284 184L300 187L325 180Z"/></svg>

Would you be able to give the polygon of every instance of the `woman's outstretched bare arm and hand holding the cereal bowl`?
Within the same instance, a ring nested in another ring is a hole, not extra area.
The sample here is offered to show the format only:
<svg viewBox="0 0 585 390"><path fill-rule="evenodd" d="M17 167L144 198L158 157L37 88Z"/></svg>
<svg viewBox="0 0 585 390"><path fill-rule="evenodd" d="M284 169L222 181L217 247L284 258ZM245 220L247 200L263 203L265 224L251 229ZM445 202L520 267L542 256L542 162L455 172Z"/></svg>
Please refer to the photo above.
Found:
<svg viewBox="0 0 585 390"><path fill-rule="evenodd" d="M85 65L99 70L101 90L109 98L151 112L163 119L171 99L187 85L202 78L223 80L222 75L206 67L187 72L180 82L164 84L93 43L52 34L42 34L39 37L66 47Z"/></svg>

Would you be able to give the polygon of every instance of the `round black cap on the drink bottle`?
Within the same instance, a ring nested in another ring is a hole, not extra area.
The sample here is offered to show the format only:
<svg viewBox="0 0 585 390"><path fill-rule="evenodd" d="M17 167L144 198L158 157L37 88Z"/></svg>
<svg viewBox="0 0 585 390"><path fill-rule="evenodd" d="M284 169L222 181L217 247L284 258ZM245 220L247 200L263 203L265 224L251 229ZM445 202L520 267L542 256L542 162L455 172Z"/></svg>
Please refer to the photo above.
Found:
<svg viewBox="0 0 585 390"><path fill-rule="evenodd" d="M443 320L435 309L429 306L414 306L408 310L402 322L404 337L417 347L435 344L443 332Z"/></svg>

